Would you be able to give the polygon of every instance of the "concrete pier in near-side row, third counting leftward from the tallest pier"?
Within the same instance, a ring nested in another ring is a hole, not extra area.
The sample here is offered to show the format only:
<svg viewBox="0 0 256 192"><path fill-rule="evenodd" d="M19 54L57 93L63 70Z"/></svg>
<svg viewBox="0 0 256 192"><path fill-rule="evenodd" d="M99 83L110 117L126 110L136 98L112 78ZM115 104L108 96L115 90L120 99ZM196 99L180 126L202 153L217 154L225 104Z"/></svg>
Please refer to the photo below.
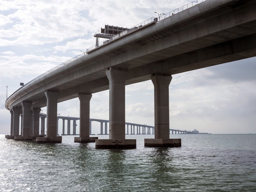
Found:
<svg viewBox="0 0 256 192"><path fill-rule="evenodd" d="M33 140L33 137L30 135L30 116L31 116L31 105L30 101L22 101L22 136L15 136L14 140Z"/></svg>

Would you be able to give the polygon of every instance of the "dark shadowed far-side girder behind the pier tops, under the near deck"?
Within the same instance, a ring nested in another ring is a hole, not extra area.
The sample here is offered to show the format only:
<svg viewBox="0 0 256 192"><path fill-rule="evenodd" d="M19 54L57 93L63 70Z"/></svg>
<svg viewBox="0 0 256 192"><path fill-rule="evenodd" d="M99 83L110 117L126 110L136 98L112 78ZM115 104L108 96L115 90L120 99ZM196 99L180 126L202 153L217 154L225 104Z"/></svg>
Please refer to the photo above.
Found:
<svg viewBox="0 0 256 192"><path fill-rule="evenodd" d="M128 85L150 80L150 76L153 73L178 74L255 56L256 34L252 34L129 69L125 84ZM108 83L107 76L104 76L100 79L60 91L58 102L76 98L78 97L78 92L96 93L108 90ZM53 89L57 88L55 87ZM41 93L34 97L38 98L39 95L42 96L42 100L33 101L32 107L46 106L44 94Z"/></svg>

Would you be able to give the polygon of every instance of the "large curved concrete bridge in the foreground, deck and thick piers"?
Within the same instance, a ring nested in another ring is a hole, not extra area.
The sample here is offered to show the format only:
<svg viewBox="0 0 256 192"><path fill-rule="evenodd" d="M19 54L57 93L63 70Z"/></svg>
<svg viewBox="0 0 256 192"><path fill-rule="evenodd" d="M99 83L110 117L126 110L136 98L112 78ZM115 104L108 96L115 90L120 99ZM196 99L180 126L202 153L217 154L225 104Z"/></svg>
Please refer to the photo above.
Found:
<svg viewBox="0 0 256 192"><path fill-rule="evenodd" d="M256 56L255 0L194 2L161 20L150 18L25 84L5 102L12 114L11 135L30 139L31 110L37 127L40 108L47 106L47 134L36 141L61 142L56 132L57 103L78 97L80 137L75 141L94 141L89 136L90 99L93 93L109 89L109 139L96 140L95 146L135 148L136 140L125 139L125 85L151 79L155 139L145 139L145 146L181 146L180 140L169 138L172 75ZM17 132L20 108L22 136Z"/></svg>

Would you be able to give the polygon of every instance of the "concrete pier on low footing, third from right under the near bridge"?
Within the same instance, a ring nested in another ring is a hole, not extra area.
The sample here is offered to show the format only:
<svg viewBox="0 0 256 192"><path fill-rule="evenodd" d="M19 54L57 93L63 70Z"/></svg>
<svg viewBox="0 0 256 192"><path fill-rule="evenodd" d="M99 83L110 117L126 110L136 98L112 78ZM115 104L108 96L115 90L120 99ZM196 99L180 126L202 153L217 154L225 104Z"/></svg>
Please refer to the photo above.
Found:
<svg viewBox="0 0 256 192"><path fill-rule="evenodd" d="M75 137L75 142L89 143L95 142L98 137L90 137L92 122L90 121L90 100L92 94L79 93L80 100L80 137Z"/></svg>

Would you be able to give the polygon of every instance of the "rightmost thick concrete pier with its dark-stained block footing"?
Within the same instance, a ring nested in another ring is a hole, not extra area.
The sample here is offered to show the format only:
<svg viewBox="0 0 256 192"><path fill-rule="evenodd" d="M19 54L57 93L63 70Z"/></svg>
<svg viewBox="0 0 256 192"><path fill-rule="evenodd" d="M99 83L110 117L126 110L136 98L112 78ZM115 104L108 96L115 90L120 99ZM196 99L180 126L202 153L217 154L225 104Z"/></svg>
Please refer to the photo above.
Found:
<svg viewBox="0 0 256 192"><path fill-rule="evenodd" d="M145 147L180 147L181 139L170 139L169 84L172 76L153 74L155 100L155 139L144 139Z"/></svg>

